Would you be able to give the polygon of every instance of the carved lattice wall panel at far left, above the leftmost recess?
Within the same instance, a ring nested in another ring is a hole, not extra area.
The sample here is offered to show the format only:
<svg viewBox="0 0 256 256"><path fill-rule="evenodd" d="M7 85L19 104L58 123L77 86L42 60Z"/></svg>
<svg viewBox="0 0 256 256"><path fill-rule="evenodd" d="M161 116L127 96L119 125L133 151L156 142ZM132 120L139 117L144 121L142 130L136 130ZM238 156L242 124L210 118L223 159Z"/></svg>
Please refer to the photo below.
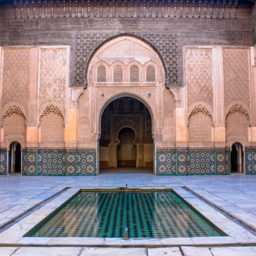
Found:
<svg viewBox="0 0 256 256"><path fill-rule="evenodd" d="M3 56L2 107L18 101L27 105L29 49L5 49Z"/></svg>

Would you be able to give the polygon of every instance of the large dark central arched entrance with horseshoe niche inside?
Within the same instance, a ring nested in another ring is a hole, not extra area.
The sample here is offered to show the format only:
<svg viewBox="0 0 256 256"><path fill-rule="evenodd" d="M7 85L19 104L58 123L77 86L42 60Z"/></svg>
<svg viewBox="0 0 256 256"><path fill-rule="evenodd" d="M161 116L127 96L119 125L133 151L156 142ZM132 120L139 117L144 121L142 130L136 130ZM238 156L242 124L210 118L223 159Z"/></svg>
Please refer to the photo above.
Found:
<svg viewBox="0 0 256 256"><path fill-rule="evenodd" d="M151 168L153 172L152 120L138 99L123 96L102 113L99 168Z"/></svg>

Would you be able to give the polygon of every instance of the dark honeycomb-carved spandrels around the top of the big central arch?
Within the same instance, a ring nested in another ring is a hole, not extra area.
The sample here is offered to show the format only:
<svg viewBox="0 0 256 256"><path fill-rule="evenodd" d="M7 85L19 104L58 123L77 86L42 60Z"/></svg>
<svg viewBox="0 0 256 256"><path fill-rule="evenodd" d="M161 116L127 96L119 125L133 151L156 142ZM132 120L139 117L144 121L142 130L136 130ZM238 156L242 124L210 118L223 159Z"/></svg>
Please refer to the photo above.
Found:
<svg viewBox="0 0 256 256"><path fill-rule="evenodd" d="M178 43L174 33L105 33L77 32L75 48L75 77L73 86L87 86L87 70L90 60L99 47L121 35L134 36L150 44L163 61L166 86L179 84L178 81Z"/></svg>

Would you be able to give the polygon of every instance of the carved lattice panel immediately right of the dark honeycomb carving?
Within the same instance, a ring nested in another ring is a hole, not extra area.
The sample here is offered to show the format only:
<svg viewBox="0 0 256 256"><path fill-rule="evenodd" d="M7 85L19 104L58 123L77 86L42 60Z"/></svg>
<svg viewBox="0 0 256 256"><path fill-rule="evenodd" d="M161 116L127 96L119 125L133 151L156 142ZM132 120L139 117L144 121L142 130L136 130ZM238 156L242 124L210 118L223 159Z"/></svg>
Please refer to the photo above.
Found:
<svg viewBox="0 0 256 256"><path fill-rule="evenodd" d="M185 54L188 106L195 100L212 106L212 49L186 49Z"/></svg>

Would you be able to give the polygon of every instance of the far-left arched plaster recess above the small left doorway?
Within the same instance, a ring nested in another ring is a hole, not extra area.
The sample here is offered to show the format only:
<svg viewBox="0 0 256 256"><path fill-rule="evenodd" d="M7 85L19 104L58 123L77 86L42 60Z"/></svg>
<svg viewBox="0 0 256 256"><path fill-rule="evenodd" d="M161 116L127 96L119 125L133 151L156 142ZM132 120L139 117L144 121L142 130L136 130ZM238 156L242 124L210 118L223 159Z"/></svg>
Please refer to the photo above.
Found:
<svg viewBox="0 0 256 256"><path fill-rule="evenodd" d="M20 106L12 105L3 113L3 140L9 146L14 140L26 142L26 117Z"/></svg>

